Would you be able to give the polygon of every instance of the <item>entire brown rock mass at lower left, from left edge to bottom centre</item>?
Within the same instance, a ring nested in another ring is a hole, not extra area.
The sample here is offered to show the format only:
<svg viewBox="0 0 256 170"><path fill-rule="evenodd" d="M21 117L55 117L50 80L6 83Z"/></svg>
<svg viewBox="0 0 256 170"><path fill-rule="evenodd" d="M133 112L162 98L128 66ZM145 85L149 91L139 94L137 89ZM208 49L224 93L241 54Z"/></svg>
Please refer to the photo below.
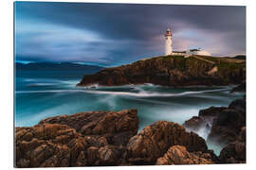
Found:
<svg viewBox="0 0 256 170"><path fill-rule="evenodd" d="M137 110L81 112L50 117L34 127L15 127L15 165L118 165L137 128Z"/></svg>

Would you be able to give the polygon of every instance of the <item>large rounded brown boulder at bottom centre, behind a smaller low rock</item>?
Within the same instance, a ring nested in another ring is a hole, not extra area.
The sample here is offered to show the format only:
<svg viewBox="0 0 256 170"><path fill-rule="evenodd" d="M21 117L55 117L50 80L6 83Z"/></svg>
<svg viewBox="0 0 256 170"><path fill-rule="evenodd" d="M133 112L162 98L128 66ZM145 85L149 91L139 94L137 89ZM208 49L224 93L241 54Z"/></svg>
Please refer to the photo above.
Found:
<svg viewBox="0 0 256 170"><path fill-rule="evenodd" d="M135 164L155 164L172 145L184 145L192 151L207 151L205 140L173 122L158 121L145 127L127 144L127 160Z"/></svg>

